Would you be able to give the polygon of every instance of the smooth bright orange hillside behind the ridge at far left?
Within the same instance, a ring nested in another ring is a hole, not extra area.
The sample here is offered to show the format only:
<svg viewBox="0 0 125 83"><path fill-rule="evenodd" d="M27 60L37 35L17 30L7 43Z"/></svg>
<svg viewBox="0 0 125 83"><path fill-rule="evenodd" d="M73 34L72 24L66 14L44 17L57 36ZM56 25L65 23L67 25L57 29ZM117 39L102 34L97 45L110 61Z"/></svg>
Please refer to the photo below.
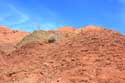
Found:
<svg viewBox="0 0 125 83"><path fill-rule="evenodd" d="M0 50L11 52L16 43L28 34L27 32L11 30L7 27L0 26Z"/></svg>

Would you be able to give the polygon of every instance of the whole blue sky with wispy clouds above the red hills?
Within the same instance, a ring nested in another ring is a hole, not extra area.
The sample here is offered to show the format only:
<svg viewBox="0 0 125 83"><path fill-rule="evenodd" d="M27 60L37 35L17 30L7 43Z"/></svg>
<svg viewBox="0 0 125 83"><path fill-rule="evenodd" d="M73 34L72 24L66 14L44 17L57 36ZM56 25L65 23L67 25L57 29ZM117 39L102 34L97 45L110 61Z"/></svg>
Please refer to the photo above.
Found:
<svg viewBox="0 0 125 83"><path fill-rule="evenodd" d="M96 25L125 33L125 0L0 0L0 25L25 31Z"/></svg>

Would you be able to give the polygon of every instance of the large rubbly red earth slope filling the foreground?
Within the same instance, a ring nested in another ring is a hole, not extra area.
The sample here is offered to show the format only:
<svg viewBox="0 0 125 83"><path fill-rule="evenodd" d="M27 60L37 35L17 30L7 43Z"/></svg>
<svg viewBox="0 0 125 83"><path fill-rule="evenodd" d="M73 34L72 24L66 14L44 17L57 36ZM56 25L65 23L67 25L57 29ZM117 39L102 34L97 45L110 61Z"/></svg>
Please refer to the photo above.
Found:
<svg viewBox="0 0 125 83"><path fill-rule="evenodd" d="M26 44L6 60L3 83L125 83L125 37L112 30Z"/></svg>

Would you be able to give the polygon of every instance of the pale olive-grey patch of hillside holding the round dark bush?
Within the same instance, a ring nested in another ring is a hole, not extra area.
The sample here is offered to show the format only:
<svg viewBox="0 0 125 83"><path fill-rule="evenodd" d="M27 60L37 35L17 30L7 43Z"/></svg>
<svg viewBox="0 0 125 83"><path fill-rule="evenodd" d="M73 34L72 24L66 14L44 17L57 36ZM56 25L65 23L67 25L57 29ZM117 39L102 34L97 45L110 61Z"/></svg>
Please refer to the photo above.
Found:
<svg viewBox="0 0 125 83"><path fill-rule="evenodd" d="M53 43L58 40L62 40L71 35L71 33L65 32L55 32L55 31L43 31L36 30L24 37L19 43L17 43L17 47L21 47L30 42L45 42L45 43Z"/></svg>

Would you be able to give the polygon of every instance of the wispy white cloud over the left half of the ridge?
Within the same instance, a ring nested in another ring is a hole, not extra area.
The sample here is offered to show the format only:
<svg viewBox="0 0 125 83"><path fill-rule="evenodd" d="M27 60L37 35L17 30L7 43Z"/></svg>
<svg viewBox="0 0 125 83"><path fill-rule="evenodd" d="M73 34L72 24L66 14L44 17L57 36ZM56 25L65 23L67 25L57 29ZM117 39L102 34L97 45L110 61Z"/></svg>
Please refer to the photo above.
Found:
<svg viewBox="0 0 125 83"><path fill-rule="evenodd" d="M2 5L2 3L0 3L0 7L3 8L3 11L0 12L0 24L2 25L27 31L37 29L37 24L40 24L43 30L56 29L61 26L59 24L61 18L56 12L51 11L45 6L42 6L40 9L40 11L44 11L41 15L37 12L34 13L36 15L33 16L33 14L26 14L26 12L19 10L19 6L14 6L8 2L5 4L6 5Z"/></svg>

